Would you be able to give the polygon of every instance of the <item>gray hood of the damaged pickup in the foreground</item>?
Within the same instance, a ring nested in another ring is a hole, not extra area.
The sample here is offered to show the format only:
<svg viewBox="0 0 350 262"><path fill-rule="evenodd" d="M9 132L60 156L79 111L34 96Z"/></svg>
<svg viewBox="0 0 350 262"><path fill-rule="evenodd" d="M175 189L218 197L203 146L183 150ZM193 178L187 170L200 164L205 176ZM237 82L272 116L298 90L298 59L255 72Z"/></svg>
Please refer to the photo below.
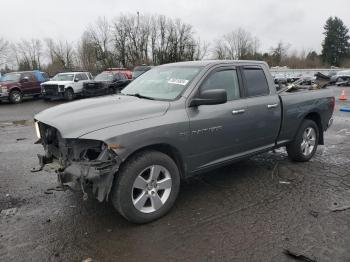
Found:
<svg viewBox="0 0 350 262"><path fill-rule="evenodd" d="M161 116L168 107L166 101L111 95L51 107L34 118L57 128L63 138L78 138L99 129Z"/></svg>

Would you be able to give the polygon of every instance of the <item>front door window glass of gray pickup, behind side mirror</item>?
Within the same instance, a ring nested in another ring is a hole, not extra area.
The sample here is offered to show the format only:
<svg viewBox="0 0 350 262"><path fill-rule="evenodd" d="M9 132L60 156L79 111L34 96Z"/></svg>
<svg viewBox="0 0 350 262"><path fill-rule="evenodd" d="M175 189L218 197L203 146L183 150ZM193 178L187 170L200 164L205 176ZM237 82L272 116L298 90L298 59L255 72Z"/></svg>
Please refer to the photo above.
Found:
<svg viewBox="0 0 350 262"><path fill-rule="evenodd" d="M228 101L238 99L240 95L236 70L222 70L209 75L202 84L200 91L210 89L225 89Z"/></svg>

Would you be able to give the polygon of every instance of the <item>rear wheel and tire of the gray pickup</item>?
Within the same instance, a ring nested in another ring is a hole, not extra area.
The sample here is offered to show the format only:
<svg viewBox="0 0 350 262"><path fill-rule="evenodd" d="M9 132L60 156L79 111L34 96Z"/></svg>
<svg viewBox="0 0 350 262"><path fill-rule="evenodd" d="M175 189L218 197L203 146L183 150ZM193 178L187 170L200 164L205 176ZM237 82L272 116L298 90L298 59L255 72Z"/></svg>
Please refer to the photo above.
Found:
<svg viewBox="0 0 350 262"><path fill-rule="evenodd" d="M294 140L287 145L289 158L298 162L309 161L316 152L319 132L314 121L305 119Z"/></svg>

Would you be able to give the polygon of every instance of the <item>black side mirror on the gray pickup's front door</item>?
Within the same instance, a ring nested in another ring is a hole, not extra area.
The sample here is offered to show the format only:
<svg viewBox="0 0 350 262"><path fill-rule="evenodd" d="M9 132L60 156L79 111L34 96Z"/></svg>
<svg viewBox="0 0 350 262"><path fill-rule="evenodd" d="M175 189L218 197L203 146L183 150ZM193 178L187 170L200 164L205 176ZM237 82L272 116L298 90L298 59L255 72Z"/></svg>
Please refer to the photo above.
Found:
<svg viewBox="0 0 350 262"><path fill-rule="evenodd" d="M200 106L200 105L218 105L227 102L227 93L225 89L211 89L205 90L194 98L190 106Z"/></svg>

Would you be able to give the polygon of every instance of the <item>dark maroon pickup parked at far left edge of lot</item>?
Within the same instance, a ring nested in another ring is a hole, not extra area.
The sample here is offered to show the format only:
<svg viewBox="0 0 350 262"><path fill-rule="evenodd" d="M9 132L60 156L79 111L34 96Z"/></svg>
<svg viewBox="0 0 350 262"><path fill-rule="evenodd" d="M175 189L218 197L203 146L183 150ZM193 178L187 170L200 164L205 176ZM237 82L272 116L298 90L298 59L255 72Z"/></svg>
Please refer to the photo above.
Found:
<svg viewBox="0 0 350 262"><path fill-rule="evenodd" d="M7 73L0 79L0 100L17 104L24 97L38 97L41 94L40 84L48 77L47 73L38 70Z"/></svg>

